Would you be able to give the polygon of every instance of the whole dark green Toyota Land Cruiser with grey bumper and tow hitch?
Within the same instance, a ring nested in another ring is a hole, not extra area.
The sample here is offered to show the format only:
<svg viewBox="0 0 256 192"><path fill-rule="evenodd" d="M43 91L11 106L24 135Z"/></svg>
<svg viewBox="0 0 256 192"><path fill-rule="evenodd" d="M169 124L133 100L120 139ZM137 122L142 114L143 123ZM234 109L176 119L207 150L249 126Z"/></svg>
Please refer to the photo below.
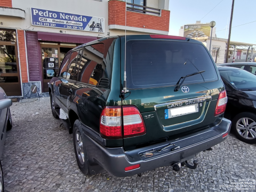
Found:
<svg viewBox="0 0 256 192"><path fill-rule="evenodd" d="M197 161L187 160L230 131L218 70L190 38L127 35L83 44L66 54L49 93L85 175L195 169Z"/></svg>

